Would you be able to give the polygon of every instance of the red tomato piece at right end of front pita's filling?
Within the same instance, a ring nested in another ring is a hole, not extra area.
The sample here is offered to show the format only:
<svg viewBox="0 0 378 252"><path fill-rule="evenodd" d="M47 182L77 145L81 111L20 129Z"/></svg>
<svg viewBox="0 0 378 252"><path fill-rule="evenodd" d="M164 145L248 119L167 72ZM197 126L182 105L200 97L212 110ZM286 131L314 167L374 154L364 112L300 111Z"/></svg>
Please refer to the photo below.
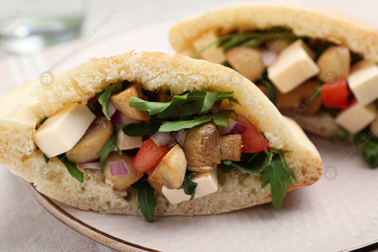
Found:
<svg viewBox="0 0 378 252"><path fill-rule="evenodd" d="M270 149L270 146L265 140L264 136L255 127L255 125L248 121L248 119L239 114L236 121L247 127L247 129L242 133L242 152L254 153L263 152L264 149Z"/></svg>

